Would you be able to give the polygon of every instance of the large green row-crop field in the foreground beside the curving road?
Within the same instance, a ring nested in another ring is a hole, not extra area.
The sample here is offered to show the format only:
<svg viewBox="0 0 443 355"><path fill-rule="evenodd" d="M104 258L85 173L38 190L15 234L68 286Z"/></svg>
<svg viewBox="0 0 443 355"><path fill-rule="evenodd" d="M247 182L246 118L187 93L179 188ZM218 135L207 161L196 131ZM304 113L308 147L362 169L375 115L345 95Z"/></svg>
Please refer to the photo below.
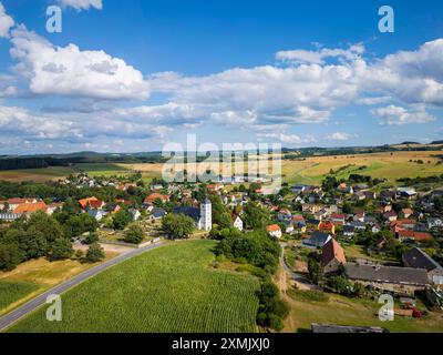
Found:
<svg viewBox="0 0 443 355"><path fill-rule="evenodd" d="M212 241L159 247L62 295L63 321L45 308L10 332L256 332L257 278L212 267Z"/></svg>

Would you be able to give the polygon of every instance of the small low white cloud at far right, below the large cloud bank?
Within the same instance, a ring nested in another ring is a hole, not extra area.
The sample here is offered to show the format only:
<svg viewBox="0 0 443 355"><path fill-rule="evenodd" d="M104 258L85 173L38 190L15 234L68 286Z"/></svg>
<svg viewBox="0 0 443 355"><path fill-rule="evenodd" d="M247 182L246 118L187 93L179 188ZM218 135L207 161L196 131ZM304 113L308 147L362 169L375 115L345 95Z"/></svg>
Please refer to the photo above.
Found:
<svg viewBox="0 0 443 355"><path fill-rule="evenodd" d="M406 110L393 104L374 109L372 114L380 119L380 124L388 125L402 125L409 123L427 123L435 121L435 118L426 112L423 105L414 108L414 110Z"/></svg>

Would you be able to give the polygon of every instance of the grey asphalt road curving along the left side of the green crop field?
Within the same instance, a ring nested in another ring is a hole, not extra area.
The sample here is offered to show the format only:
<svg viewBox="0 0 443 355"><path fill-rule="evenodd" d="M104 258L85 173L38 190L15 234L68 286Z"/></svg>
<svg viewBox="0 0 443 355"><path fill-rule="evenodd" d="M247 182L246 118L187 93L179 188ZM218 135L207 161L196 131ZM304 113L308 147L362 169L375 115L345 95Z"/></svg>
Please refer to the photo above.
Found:
<svg viewBox="0 0 443 355"><path fill-rule="evenodd" d="M107 270L116 264L120 264L123 261L126 261L128 258L132 258L136 255L143 254L147 251L157 248L162 245L165 245L165 242L161 242L157 244L152 244L147 245L141 248L134 248L133 251L130 251L127 253L121 254L114 258L111 258L97 266L94 266L92 268L86 270L85 272L65 281L64 283L42 293L41 295L37 296L35 298L32 298L31 301L24 303L20 307L16 308L14 311L8 313L7 315L0 317L0 332L4 331L6 328L10 327L12 324L21 320L22 317L29 315L37 308L41 307L47 303L47 298L49 295L61 295L63 292L66 292L68 290L79 285L80 283L84 282L85 280L95 276L96 274L101 273L104 270Z"/></svg>

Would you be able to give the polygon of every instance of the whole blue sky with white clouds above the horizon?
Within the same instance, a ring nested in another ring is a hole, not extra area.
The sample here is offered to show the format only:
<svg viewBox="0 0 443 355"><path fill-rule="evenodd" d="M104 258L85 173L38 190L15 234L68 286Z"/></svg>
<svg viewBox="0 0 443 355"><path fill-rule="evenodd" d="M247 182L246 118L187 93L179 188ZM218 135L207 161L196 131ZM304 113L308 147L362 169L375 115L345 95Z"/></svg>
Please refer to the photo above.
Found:
<svg viewBox="0 0 443 355"><path fill-rule="evenodd" d="M0 154L441 140L443 2L385 2L0 0Z"/></svg>

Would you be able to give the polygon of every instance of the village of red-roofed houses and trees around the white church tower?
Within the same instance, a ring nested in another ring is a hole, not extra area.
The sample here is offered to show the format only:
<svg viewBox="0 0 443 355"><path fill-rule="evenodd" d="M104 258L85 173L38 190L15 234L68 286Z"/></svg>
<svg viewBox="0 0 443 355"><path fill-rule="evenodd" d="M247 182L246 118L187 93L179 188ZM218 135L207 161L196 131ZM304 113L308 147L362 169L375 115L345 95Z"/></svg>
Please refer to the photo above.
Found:
<svg viewBox="0 0 443 355"><path fill-rule="evenodd" d="M136 175L81 173L52 187L74 189L82 199L0 200L0 227L7 231L37 213L68 220L76 231L71 233L76 251L85 251L85 244L112 250L169 239L220 240L233 230L262 227L282 246L281 266L295 290L371 300L389 294L399 316L420 318L443 310L443 190L384 189L360 175L327 176L317 186L284 184L277 194L266 194L266 183L220 176L207 184L161 179L145 184ZM84 221L75 229L70 214ZM257 225L250 220L258 214Z"/></svg>

